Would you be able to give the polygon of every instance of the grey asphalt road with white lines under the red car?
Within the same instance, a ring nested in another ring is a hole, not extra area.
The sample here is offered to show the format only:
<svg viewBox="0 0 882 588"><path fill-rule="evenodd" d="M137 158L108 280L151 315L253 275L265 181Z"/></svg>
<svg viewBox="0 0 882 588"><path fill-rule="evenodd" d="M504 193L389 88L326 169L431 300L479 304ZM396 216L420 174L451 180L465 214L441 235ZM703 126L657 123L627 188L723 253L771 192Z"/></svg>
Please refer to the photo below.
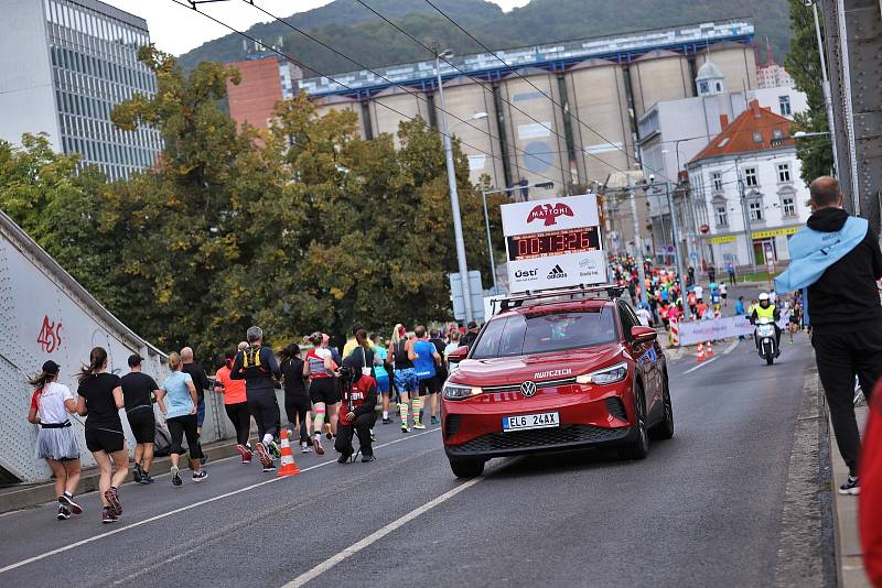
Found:
<svg viewBox="0 0 882 588"><path fill-rule="evenodd" d="M279 479L220 460L202 484L126 486L114 525L94 493L69 521L2 515L0 585L770 585L813 359L804 336L771 368L749 346L671 363L676 434L643 461L499 459L463 482L438 427L378 424L373 464L298 453Z"/></svg>

